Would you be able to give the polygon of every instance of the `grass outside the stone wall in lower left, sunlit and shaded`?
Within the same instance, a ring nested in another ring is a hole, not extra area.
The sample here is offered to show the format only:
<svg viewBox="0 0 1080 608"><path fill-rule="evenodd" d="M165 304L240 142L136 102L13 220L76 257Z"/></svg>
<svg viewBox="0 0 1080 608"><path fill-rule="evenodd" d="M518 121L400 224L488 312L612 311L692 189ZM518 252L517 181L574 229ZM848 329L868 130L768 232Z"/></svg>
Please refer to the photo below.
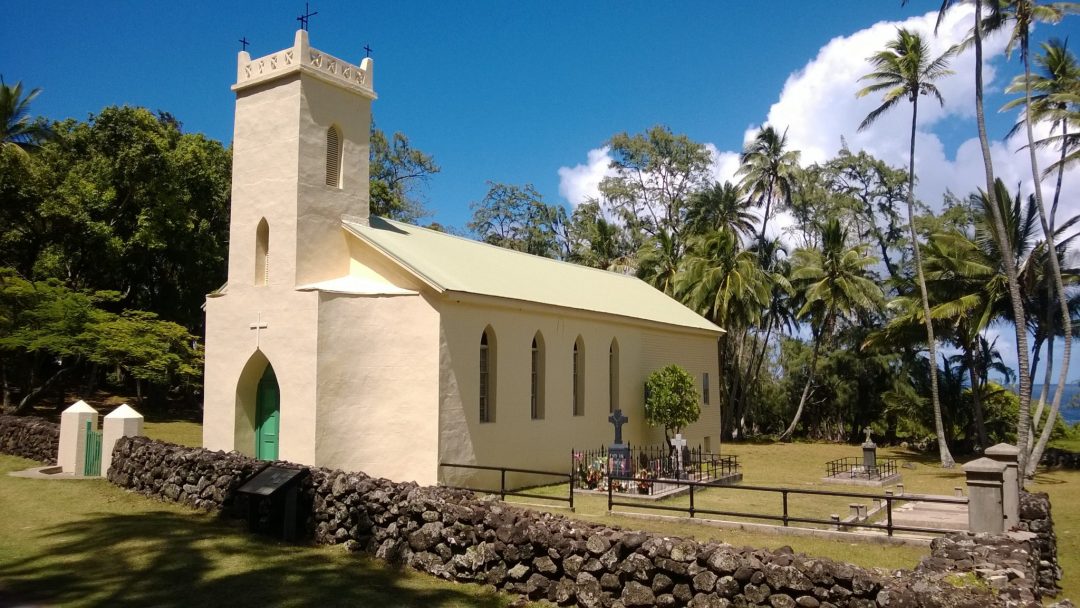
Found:
<svg viewBox="0 0 1080 608"><path fill-rule="evenodd" d="M512 598L340 546L279 543L103 479L11 477L0 456L0 606L416 606Z"/></svg>

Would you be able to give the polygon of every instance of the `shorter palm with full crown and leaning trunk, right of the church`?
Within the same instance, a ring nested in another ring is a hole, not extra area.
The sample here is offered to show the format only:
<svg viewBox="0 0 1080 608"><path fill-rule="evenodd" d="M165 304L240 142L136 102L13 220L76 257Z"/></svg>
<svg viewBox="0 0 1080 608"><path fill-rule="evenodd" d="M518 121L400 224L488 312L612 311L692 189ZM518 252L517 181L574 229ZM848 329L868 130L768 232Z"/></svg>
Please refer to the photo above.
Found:
<svg viewBox="0 0 1080 608"><path fill-rule="evenodd" d="M787 430L781 433L781 440L792 436L802 417L818 371L821 347L832 341L838 321L880 308L881 288L866 275L866 269L877 260L868 255L866 245L849 247L847 242L848 231L837 219L829 219L822 227L821 248L797 249L793 256L792 282L804 286L805 303L798 317L810 317L814 346L798 408Z"/></svg>

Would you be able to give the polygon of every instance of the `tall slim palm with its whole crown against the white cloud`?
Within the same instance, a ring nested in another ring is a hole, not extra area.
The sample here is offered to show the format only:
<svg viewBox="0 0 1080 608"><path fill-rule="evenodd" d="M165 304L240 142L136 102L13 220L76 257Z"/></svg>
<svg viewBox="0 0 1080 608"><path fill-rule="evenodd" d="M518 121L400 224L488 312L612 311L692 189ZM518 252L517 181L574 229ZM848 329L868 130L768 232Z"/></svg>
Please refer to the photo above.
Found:
<svg viewBox="0 0 1080 608"><path fill-rule="evenodd" d="M927 296L927 281L922 273L922 256L919 252L919 235L915 230L915 129L919 116L919 97L933 96L937 103L945 105L945 99L934 85L939 78L953 73L948 69L948 58L951 51L940 57L930 57L930 48L922 37L905 28L896 30L896 38L891 40L883 51L878 51L869 57L874 71L860 78L873 81L856 94L863 97L870 93L885 91L882 103L874 111L866 114L859 130L863 131L874 124L885 112L894 108L902 99L912 103L912 137L907 162L907 229L912 239L912 249L915 254L915 274L919 284L919 295L922 297L923 319L927 326L927 347L930 350L930 361L937 361L937 343L934 339L934 326L930 320L930 299ZM956 464L945 442L945 428L942 422L942 406L937 394L937 366L930 366L930 401L934 407L934 424L937 431L937 451L942 467Z"/></svg>

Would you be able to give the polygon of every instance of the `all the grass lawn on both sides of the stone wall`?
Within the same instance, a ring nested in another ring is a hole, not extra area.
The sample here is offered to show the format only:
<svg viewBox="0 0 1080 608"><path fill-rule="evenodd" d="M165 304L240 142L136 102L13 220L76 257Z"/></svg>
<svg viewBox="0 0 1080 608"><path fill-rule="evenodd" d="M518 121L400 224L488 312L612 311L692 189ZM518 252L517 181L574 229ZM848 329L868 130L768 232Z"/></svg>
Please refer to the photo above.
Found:
<svg viewBox="0 0 1080 608"><path fill-rule="evenodd" d="M190 420L150 417L147 435L184 445L201 443L201 425ZM1064 446L1063 446L1064 447ZM858 456L858 446L832 444L725 444L739 456L744 483L877 494L876 488L821 484L824 463ZM933 456L883 448L879 458L914 464L901 469L908 492L951 495L963 485L959 468L942 469ZM339 548L298 548L251 537L239 524L145 499L104 481L39 482L8 477L32 463L0 456L0 606L8 596L25 602L96 606L188 606L218 604L229 594L239 606L504 606L509 598L481 587L436 581L388 568ZM1051 496L1058 558L1065 571L1061 597L1080 598L1080 471L1040 473L1032 491ZM565 496L566 485L536 491ZM512 499L537 502L530 499ZM686 498L672 499L686 503ZM912 568L928 552L921 546L853 543L809 537L745 532L692 523L645 521L607 513L607 497L578 494L571 517L646 529L658 533L718 540L737 546L789 545L810 555L864 567ZM821 517L846 514L850 499L792 497L789 512ZM779 513L774 495L715 489L696 496L698 506ZM86 505L87 513L58 508ZM104 556L108 556L103 559ZM181 586L183 596L173 590ZM190 583L188 582L190 581ZM173 595L176 595L173 597Z"/></svg>

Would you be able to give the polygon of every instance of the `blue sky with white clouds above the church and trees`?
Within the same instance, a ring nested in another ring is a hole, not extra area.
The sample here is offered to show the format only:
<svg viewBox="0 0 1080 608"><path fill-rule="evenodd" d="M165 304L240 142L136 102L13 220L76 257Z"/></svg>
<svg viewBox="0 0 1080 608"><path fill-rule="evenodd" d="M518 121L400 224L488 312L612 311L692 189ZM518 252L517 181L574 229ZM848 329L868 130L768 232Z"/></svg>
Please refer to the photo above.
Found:
<svg viewBox="0 0 1080 608"><path fill-rule="evenodd" d="M36 113L85 119L108 105L146 106L226 143L238 39L252 42L253 56L286 48L303 11L295 0L2 2L0 73L42 87ZM653 124L707 143L718 178L731 175L743 141L764 122L788 127L806 162L835 154L842 137L904 166L908 110L856 133L876 105L854 98L856 78L896 25L928 31L939 5L326 1L311 6L319 14L310 36L313 46L351 62L372 46L376 124L434 156L443 171L424 190L430 219L463 227L487 180L531 183L549 202L581 202L606 172L604 143ZM937 51L967 31L970 14L961 8L943 24ZM1036 29L1036 40L1048 36L1080 46L1080 17ZM1004 43L987 46L997 57ZM920 110L918 193L932 206L945 189L966 194L983 184L971 62L970 54L958 58L957 76L942 83L944 108ZM1020 65L995 58L988 67L999 174L1029 189L1026 157L1000 140L1015 117L997 112ZM1077 173L1063 188L1070 194L1063 214L1080 212ZM785 226L783 218L774 224Z"/></svg>

